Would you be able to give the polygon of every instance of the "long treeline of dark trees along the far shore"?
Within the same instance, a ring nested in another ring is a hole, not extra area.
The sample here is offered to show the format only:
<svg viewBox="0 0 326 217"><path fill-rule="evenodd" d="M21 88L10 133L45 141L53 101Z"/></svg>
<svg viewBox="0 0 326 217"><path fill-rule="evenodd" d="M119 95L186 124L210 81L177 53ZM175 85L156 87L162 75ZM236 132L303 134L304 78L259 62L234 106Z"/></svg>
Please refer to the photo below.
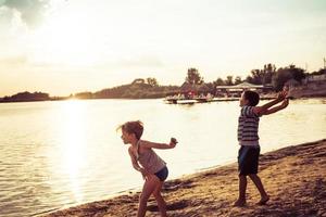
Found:
<svg viewBox="0 0 326 217"><path fill-rule="evenodd" d="M0 102L25 102L25 101L46 101L63 100L68 98L77 99L156 99L166 95L186 92L189 89L198 92L216 92L218 86L234 86L248 81L254 85L264 85L272 87L275 91L280 90L284 85L294 79L302 84L308 75L323 75L326 69L319 69L308 74L303 68L296 65L276 68L274 64L266 64L261 69L252 69L244 79L240 76L226 76L225 79L217 77L214 81L205 82L197 68L189 68L181 86L161 86L155 78L137 78L131 84L122 85L113 88L106 88L97 92L78 92L67 98L50 98L48 93L42 92L21 92L12 97L0 98Z"/></svg>

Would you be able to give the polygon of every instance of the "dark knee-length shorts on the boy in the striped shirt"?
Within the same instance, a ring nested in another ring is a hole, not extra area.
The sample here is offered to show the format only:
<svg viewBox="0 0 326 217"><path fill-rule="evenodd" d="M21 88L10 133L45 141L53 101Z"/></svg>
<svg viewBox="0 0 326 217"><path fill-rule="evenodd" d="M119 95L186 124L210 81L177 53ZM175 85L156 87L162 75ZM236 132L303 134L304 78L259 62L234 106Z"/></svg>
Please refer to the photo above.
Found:
<svg viewBox="0 0 326 217"><path fill-rule="evenodd" d="M258 174L261 148L259 145L241 145L238 154L239 175Z"/></svg>

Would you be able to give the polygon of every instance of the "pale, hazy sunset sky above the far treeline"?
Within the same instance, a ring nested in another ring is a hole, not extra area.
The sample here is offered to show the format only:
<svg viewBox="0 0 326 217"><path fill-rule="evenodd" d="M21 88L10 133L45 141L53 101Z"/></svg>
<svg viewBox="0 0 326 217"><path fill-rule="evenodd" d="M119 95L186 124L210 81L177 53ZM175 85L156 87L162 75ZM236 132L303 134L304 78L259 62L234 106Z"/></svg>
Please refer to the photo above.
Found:
<svg viewBox="0 0 326 217"><path fill-rule="evenodd" d="M325 0L0 0L0 97L68 95L135 78L244 79L273 63L318 71Z"/></svg>

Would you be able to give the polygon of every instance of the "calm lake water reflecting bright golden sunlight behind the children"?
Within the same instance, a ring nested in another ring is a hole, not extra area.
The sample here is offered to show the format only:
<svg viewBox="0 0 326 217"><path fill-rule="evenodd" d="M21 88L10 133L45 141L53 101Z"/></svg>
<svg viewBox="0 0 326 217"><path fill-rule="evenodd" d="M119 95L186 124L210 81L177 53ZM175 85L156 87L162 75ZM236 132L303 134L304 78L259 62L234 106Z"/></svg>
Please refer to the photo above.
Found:
<svg viewBox="0 0 326 217"><path fill-rule="evenodd" d="M193 105L162 100L0 104L0 216L34 216L139 189L116 127L145 124L142 138L179 143L159 150L168 179L235 162L238 102ZM262 152L326 138L326 100L291 101L261 118Z"/></svg>

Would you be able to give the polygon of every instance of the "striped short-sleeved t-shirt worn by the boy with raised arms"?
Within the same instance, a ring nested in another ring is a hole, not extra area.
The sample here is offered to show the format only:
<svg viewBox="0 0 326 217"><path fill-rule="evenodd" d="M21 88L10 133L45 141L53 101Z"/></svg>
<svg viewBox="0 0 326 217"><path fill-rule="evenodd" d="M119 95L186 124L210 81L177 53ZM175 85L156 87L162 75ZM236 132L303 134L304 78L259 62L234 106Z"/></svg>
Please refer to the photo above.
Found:
<svg viewBox="0 0 326 217"><path fill-rule="evenodd" d="M259 145L260 116L253 112L254 106L241 107L238 124L238 141L240 145Z"/></svg>

